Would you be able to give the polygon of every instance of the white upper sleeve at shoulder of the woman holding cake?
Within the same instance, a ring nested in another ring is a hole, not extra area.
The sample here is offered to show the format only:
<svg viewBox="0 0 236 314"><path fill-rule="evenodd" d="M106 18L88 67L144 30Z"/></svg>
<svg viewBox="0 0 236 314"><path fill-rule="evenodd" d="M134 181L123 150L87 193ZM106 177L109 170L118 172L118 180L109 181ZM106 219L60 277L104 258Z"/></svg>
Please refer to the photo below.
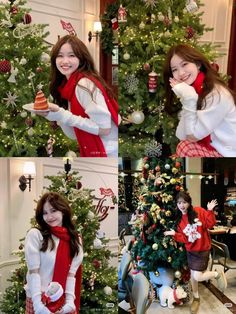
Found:
<svg viewBox="0 0 236 314"><path fill-rule="evenodd" d="M100 128L111 128L111 113L100 89L88 78L82 78L76 86L75 92L86 114Z"/></svg>

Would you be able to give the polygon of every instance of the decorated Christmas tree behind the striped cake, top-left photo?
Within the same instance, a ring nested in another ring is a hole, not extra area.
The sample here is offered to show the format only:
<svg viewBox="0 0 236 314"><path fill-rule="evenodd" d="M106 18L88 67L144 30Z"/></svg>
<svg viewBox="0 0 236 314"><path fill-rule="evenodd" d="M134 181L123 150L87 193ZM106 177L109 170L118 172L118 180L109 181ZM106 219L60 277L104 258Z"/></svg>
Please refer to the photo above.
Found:
<svg viewBox="0 0 236 314"><path fill-rule="evenodd" d="M0 156L64 156L71 143L57 125L22 108L40 89L49 96L47 25L29 12L26 0L0 3Z"/></svg>

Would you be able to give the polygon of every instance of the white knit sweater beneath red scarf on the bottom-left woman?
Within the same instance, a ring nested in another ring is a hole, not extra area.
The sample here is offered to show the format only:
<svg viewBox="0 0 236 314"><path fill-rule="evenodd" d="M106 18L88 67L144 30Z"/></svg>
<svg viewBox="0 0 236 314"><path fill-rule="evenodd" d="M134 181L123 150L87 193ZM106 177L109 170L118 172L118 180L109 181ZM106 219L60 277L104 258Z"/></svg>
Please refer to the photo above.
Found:
<svg viewBox="0 0 236 314"><path fill-rule="evenodd" d="M28 267L26 281L29 276L29 270L39 269L42 291L45 291L49 283L52 281L54 272L54 264L56 261L56 251L59 244L59 238L55 237L54 235L52 235L52 238L55 241L55 248L52 251L47 250L46 252L40 251L43 236L38 229L30 229L25 239L25 258ZM83 250L80 247L79 254L76 255L72 260L69 272L75 274L80 264L82 263L82 260ZM25 285L25 290L27 297L30 298L31 293L27 284Z"/></svg>

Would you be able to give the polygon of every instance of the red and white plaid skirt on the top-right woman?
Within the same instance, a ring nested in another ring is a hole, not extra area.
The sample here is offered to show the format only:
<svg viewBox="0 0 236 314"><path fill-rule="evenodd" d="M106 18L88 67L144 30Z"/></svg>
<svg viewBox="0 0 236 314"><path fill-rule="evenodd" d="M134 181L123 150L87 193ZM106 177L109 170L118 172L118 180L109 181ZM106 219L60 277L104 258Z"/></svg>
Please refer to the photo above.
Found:
<svg viewBox="0 0 236 314"><path fill-rule="evenodd" d="M176 148L177 157L223 157L215 149L208 150L198 142L181 141Z"/></svg>

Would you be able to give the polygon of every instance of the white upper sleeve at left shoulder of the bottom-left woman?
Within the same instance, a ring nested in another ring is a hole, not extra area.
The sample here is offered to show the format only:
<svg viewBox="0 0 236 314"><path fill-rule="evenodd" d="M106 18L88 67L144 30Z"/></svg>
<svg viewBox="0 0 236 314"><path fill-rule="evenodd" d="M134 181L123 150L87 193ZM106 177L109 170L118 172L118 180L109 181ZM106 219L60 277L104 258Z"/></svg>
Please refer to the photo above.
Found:
<svg viewBox="0 0 236 314"><path fill-rule="evenodd" d="M25 238L25 259L29 270L40 268L40 249L43 236L41 232L32 228Z"/></svg>

